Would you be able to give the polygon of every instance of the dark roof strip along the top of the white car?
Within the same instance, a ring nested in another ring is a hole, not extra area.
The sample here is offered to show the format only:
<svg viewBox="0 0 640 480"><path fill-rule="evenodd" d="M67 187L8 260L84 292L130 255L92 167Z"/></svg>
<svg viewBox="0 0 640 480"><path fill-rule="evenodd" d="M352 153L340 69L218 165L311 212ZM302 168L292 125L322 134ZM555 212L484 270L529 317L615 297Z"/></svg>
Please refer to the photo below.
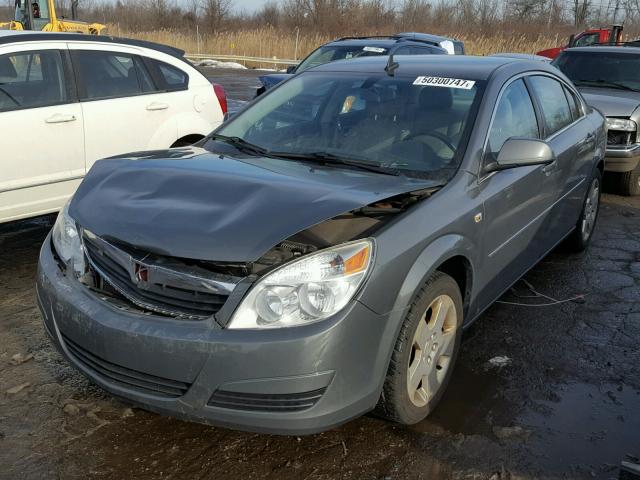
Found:
<svg viewBox="0 0 640 480"><path fill-rule="evenodd" d="M48 40L131 45L135 47L149 48L151 50L166 53L172 57L184 59L184 50L170 47L169 45L163 45L161 43L148 42L146 40L137 40L133 38L112 37L108 35L84 35L80 33L66 32L31 32L19 30L0 31L0 45L17 42L44 42Z"/></svg>

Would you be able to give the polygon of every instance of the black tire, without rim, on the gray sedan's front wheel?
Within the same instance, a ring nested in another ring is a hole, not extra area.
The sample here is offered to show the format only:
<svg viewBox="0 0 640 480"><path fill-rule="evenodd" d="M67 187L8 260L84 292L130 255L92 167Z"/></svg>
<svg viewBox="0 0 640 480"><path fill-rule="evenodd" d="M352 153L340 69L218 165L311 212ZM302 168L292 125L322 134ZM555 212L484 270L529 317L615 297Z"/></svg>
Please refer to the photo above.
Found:
<svg viewBox="0 0 640 480"><path fill-rule="evenodd" d="M427 308L441 295L448 295L451 298L456 311L457 325L455 332L452 333L452 335L455 335L453 351L444 379L435 394L428 399L426 405L419 407L411 400L407 385L409 364L412 361L412 355L415 355L413 340L418 324L421 322ZM462 295L458 284L449 275L442 272L434 273L416 295L405 317L391 356L382 395L374 414L387 420L411 425L423 420L433 411L446 390L455 367L462 337L462 316Z"/></svg>

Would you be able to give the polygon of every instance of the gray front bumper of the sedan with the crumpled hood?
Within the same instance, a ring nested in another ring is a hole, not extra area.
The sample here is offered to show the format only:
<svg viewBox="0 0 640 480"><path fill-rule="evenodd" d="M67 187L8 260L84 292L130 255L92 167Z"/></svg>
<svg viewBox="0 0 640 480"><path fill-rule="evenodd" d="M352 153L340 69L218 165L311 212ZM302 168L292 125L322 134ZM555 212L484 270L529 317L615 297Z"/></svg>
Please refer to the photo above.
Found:
<svg viewBox="0 0 640 480"><path fill-rule="evenodd" d="M393 342L387 318L358 302L317 324L265 331L123 311L67 277L49 237L37 295L53 343L105 390L241 430L309 434L371 410Z"/></svg>

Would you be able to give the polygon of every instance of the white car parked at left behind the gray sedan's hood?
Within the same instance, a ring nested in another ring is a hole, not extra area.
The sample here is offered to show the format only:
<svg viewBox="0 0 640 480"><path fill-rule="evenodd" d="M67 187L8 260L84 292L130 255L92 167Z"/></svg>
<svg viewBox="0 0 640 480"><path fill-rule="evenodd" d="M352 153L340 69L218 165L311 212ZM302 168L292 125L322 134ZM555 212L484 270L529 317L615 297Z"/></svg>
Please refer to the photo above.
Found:
<svg viewBox="0 0 640 480"><path fill-rule="evenodd" d="M101 158L194 143L226 97L180 50L0 32L0 223L59 210Z"/></svg>

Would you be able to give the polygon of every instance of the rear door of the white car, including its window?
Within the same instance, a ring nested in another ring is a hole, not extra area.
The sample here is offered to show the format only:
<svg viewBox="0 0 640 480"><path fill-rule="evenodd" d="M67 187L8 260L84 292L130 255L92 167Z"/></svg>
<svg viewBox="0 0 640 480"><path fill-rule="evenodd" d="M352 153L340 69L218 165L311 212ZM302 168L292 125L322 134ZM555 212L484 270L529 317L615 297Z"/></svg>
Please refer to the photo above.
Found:
<svg viewBox="0 0 640 480"><path fill-rule="evenodd" d="M138 50L70 43L84 116L87 169L101 158L169 148L177 138L167 102Z"/></svg>

